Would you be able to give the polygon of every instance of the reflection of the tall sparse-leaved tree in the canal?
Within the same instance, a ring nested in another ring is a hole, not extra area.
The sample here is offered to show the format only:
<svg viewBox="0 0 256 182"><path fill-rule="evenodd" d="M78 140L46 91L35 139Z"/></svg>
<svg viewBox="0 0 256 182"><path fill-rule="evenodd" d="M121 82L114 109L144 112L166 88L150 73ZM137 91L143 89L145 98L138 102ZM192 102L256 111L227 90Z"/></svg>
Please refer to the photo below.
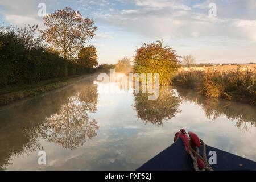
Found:
<svg viewBox="0 0 256 182"><path fill-rule="evenodd" d="M68 97L57 113L46 118L47 140L73 150L82 146L88 138L95 137L99 127L96 120L89 117L88 112L96 111L97 98L96 84Z"/></svg>

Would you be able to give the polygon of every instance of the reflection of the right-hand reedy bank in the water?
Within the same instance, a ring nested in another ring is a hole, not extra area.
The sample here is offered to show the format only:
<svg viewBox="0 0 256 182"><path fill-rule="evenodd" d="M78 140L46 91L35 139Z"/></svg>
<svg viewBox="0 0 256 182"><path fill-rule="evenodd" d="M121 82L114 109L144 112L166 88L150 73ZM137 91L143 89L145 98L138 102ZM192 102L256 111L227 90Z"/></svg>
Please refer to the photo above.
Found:
<svg viewBox="0 0 256 182"><path fill-rule="evenodd" d="M215 119L225 115L228 119L236 121L236 127L247 131L256 124L255 107L242 104L240 102L231 102L218 98L208 98L196 94L195 91L176 88L182 100L201 105L208 119Z"/></svg>

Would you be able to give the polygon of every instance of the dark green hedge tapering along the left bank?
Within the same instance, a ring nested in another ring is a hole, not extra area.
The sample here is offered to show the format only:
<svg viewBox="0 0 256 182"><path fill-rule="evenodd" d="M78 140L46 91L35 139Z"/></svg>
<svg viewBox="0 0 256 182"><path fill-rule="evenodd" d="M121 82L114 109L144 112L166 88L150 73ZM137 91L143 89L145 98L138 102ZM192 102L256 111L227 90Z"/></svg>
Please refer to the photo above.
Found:
<svg viewBox="0 0 256 182"><path fill-rule="evenodd" d="M34 36L36 29L0 27L1 87L94 71L47 49L43 39Z"/></svg>

